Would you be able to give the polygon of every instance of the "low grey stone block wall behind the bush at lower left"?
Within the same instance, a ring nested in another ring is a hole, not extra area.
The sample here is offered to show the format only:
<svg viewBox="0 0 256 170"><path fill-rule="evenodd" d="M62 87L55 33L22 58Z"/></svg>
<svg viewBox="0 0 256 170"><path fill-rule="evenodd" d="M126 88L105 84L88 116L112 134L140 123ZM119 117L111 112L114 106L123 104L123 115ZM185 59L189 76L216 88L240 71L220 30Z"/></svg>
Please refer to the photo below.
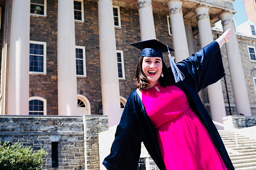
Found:
<svg viewBox="0 0 256 170"><path fill-rule="evenodd" d="M99 170L98 134L107 129L107 116L0 116L1 142L43 148L49 153L44 170ZM52 168L52 142L58 142L56 168Z"/></svg>

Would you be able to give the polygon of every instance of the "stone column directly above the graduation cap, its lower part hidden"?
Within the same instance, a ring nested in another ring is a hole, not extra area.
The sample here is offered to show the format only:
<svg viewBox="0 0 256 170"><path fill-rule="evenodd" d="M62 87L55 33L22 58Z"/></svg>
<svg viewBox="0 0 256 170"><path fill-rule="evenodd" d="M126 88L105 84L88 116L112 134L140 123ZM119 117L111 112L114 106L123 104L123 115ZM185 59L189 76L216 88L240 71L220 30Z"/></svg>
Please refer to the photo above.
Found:
<svg viewBox="0 0 256 170"><path fill-rule="evenodd" d="M138 15L140 18L141 41L156 39L151 0L138 0Z"/></svg>

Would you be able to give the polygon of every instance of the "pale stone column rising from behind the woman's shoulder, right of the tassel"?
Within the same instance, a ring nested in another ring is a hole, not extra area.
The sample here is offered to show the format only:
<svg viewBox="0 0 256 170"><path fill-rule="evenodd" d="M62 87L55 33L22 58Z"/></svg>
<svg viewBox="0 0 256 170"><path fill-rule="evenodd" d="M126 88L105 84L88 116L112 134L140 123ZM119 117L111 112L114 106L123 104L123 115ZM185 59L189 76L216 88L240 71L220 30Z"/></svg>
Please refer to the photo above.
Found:
<svg viewBox="0 0 256 170"><path fill-rule="evenodd" d="M183 0L170 0L167 2L172 27L175 62L182 61L189 57L188 43L181 8L182 3Z"/></svg>

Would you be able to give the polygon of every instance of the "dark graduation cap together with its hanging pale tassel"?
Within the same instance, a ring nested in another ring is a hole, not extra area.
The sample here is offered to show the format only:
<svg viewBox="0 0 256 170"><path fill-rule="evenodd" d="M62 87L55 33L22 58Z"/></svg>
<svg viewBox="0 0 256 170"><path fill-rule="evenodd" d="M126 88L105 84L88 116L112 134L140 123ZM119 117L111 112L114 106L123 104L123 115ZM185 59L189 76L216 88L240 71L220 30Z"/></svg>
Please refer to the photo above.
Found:
<svg viewBox="0 0 256 170"><path fill-rule="evenodd" d="M174 51L172 48L166 46L165 44L155 39L131 43L130 45L142 50L141 56L145 56L145 57L161 57L163 59L162 53L168 52L170 66L172 68L172 73L173 73L175 82L177 83L178 81L184 80L184 75L178 69L178 67L176 66L170 54L170 51Z"/></svg>

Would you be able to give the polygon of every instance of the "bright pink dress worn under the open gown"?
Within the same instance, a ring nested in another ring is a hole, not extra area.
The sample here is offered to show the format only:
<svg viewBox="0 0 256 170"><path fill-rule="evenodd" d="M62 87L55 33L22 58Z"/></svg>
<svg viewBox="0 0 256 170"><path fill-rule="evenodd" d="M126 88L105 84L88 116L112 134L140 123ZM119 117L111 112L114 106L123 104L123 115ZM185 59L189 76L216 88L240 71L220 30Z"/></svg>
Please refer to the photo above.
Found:
<svg viewBox="0 0 256 170"><path fill-rule="evenodd" d="M227 170L185 93L174 85L155 86L142 90L142 102L156 128L166 169Z"/></svg>

